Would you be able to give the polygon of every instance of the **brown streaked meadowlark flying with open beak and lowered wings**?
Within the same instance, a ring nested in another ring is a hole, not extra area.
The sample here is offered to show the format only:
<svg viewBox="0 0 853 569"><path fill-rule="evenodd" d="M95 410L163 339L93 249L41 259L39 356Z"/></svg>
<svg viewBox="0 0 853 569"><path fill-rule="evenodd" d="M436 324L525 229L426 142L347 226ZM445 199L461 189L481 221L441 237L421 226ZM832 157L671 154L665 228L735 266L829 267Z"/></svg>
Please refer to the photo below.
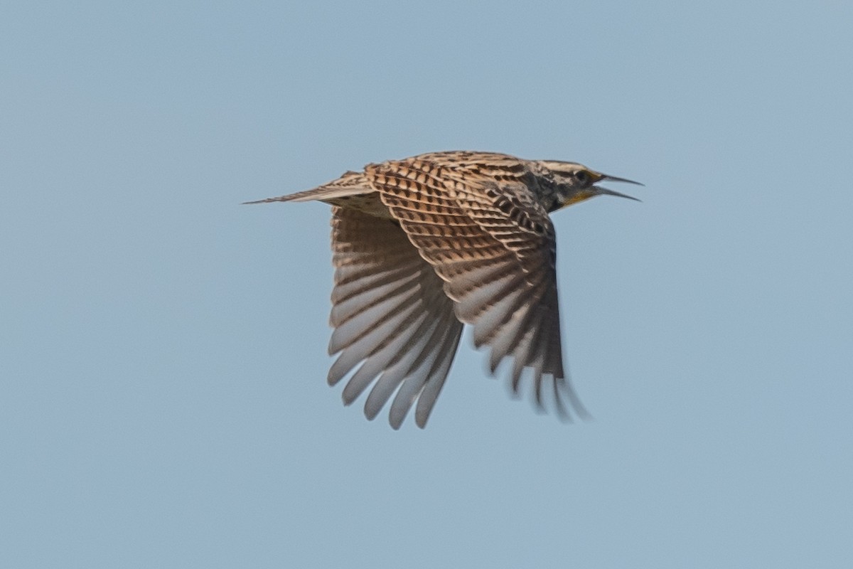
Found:
<svg viewBox="0 0 853 569"><path fill-rule="evenodd" d="M607 176L559 160L437 152L368 164L332 182L272 201L320 200L332 207L332 292L328 372L347 382L351 404L374 383L364 414L374 419L393 396L395 429L417 401L425 427L462 331L490 347L492 374L512 357L512 389L532 369L538 409L549 382L560 417L586 410L563 369L556 241L548 213L595 195ZM640 184L641 185L641 184ZM396 394L395 394L396 392Z"/></svg>

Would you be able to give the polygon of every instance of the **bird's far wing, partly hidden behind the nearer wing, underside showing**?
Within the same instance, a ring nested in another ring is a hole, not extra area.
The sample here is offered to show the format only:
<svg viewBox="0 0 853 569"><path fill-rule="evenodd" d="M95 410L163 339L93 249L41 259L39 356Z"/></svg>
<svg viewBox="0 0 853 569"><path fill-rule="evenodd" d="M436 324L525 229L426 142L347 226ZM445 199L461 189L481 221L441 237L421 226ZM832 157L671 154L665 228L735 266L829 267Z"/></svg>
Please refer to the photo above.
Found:
<svg viewBox="0 0 853 569"><path fill-rule="evenodd" d="M328 382L338 383L363 362L344 388L344 403L374 384L364 404L368 419L393 396L391 426L399 428L416 401L415 422L423 428L450 371L462 324L444 283L394 220L338 206L332 211L329 353L340 355Z"/></svg>

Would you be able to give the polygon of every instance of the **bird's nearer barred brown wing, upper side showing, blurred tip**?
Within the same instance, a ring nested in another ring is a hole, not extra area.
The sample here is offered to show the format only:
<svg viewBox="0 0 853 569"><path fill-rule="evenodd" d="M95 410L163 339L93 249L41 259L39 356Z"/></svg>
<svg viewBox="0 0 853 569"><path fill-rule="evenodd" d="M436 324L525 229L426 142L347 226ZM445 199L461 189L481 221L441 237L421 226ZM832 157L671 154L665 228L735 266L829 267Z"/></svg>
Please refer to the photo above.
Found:
<svg viewBox="0 0 853 569"><path fill-rule="evenodd" d="M472 182L470 172L426 157L368 165L365 175L444 279L456 316L473 324L475 344L490 346L492 373L510 356L514 392L531 368L540 408L549 376L560 416L569 417L563 396L586 415L563 369L554 227L522 180Z"/></svg>

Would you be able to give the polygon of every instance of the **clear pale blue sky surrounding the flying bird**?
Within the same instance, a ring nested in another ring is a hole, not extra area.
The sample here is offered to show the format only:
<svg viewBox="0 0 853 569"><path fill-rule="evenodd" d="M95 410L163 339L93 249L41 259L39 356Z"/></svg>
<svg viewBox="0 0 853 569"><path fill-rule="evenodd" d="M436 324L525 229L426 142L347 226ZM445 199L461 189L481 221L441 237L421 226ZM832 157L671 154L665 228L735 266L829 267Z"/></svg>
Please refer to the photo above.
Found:
<svg viewBox="0 0 853 569"><path fill-rule="evenodd" d="M746 4L746 5L745 5ZM3 3L0 566L850 567L853 4ZM425 431L325 377L328 206L441 149L554 215L595 421L470 337Z"/></svg>

